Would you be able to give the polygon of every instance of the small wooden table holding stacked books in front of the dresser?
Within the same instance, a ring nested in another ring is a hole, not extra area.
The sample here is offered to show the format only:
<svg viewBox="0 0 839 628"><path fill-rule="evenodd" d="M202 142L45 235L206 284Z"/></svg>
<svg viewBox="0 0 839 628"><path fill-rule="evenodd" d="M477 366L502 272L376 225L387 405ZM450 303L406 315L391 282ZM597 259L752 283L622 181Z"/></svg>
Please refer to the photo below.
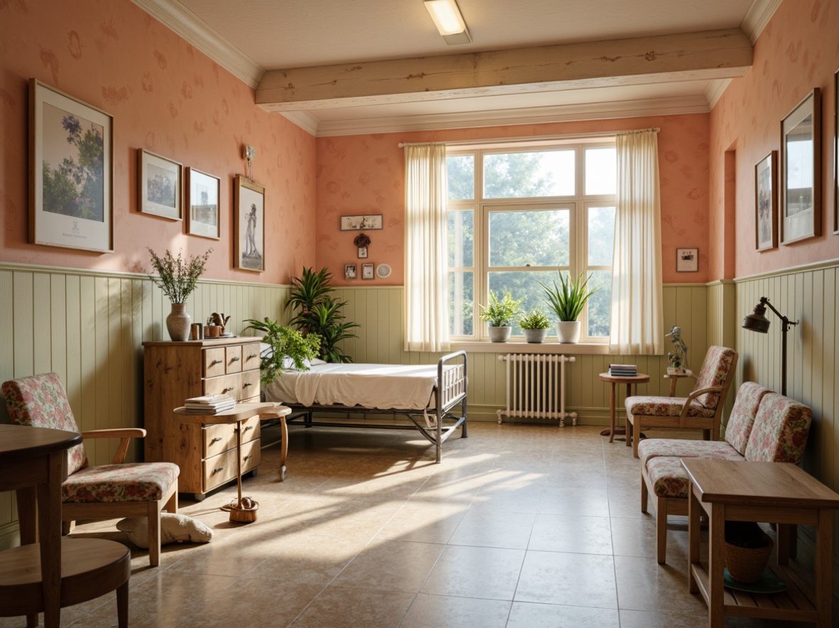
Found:
<svg viewBox="0 0 839 628"><path fill-rule="evenodd" d="M236 451L237 451L237 502L231 507L225 508L230 511L230 520L237 523L246 523L256 521L255 508L242 507L242 421L248 420L253 416L259 416L265 419L279 419L280 428L282 430L282 450L279 456L279 474L280 478L285 476L285 458L289 452L289 432L285 425L285 415L290 414L291 409L288 406L274 404L271 402L265 403L251 403L251 404L236 404L233 409L219 412L218 414L190 414L185 407L175 408L175 414L178 419L184 423L212 423L212 424L235 424L236 425ZM247 511L254 511L253 517L248 517Z"/></svg>

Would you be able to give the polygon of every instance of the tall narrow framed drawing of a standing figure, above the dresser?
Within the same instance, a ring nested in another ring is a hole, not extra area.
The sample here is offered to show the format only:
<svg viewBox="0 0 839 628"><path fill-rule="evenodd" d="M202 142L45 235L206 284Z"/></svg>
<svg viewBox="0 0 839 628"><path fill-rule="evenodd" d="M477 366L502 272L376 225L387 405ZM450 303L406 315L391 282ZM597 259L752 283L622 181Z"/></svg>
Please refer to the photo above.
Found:
<svg viewBox="0 0 839 628"><path fill-rule="evenodd" d="M237 174L233 179L233 268L265 270L265 188Z"/></svg>

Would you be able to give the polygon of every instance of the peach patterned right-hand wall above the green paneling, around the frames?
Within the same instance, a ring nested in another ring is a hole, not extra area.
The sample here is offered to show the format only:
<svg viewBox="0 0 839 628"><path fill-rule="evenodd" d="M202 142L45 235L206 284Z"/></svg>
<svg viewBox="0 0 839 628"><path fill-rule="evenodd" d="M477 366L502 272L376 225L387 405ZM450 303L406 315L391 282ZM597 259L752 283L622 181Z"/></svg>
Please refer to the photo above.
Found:
<svg viewBox="0 0 839 628"><path fill-rule="evenodd" d="M833 72L839 67L839 3L784 2L754 44L754 63L732 80L711 111L711 242L724 239L724 225L736 224L735 276L839 257L833 231ZM779 150L780 122L814 87L821 88L822 211L818 238L754 250L754 165ZM736 212L725 212L725 157L735 147ZM712 251L711 279L724 276L722 249Z"/></svg>

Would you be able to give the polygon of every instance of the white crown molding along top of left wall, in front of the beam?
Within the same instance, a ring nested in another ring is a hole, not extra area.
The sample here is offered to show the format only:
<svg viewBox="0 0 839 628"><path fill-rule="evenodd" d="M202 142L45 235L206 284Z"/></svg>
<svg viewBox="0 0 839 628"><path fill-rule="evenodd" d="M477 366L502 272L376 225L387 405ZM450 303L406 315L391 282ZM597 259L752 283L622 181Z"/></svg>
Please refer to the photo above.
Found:
<svg viewBox="0 0 839 628"><path fill-rule="evenodd" d="M257 88L265 70L177 0L131 0L247 85Z"/></svg>

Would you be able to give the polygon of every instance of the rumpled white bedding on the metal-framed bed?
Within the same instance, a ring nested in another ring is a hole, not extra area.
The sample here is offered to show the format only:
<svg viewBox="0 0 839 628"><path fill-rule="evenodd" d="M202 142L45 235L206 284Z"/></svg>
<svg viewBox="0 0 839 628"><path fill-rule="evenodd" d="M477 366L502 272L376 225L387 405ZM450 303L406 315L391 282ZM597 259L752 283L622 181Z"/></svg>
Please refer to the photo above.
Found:
<svg viewBox="0 0 839 628"><path fill-rule="evenodd" d="M437 381L437 365L316 364L285 369L265 389L266 401L302 405L359 405L374 409L424 409Z"/></svg>

